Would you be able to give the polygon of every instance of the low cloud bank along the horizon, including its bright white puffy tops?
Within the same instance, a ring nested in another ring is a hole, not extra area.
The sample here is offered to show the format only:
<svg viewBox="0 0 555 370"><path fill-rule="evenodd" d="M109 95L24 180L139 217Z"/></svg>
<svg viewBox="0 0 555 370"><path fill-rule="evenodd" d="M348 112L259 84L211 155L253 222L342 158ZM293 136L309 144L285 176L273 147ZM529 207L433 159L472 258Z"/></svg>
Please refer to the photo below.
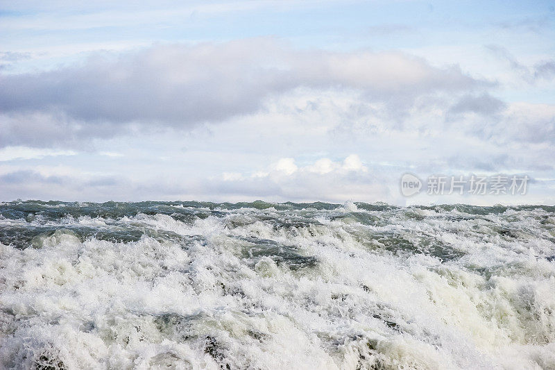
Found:
<svg viewBox="0 0 555 370"><path fill-rule="evenodd" d="M177 176L178 177L178 176ZM183 179L167 174L165 178L134 181L127 176L99 175L78 169L37 167L17 169L0 166L0 184L7 199L44 198L74 201L87 188L91 199L108 201L156 199L209 199L240 201L271 199L274 201L334 201L348 199L395 199L397 194L375 174L370 173L356 154L343 160L319 158L298 165L294 158L280 158L264 169L246 173L224 172L205 179Z"/></svg>

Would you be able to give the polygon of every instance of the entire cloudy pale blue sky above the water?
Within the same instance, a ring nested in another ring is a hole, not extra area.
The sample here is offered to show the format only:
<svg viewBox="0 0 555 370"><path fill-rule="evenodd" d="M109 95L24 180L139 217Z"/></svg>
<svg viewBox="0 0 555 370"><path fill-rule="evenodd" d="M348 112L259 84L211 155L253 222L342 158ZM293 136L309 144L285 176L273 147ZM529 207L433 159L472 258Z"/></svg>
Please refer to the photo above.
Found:
<svg viewBox="0 0 555 370"><path fill-rule="evenodd" d="M0 0L15 199L554 205L555 3Z"/></svg>

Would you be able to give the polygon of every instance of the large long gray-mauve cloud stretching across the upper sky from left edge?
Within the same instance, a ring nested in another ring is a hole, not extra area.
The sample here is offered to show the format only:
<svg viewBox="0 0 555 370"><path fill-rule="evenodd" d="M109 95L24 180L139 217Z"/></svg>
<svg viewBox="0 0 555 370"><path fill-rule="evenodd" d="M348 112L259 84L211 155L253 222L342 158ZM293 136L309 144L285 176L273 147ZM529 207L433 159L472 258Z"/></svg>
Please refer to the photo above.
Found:
<svg viewBox="0 0 555 370"><path fill-rule="evenodd" d="M488 85L402 53L298 51L268 39L159 45L4 75L0 83L0 146L75 144L133 127L189 128L257 112L264 99L298 87L359 90L397 111L422 94Z"/></svg>

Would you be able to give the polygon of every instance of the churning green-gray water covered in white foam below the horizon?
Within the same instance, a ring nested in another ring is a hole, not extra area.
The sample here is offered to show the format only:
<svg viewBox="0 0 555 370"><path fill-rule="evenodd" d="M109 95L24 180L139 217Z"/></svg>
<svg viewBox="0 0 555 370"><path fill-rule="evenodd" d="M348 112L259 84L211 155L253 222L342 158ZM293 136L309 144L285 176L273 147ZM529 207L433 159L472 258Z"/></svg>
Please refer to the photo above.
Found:
<svg viewBox="0 0 555 370"><path fill-rule="evenodd" d="M555 208L0 203L1 369L555 369Z"/></svg>

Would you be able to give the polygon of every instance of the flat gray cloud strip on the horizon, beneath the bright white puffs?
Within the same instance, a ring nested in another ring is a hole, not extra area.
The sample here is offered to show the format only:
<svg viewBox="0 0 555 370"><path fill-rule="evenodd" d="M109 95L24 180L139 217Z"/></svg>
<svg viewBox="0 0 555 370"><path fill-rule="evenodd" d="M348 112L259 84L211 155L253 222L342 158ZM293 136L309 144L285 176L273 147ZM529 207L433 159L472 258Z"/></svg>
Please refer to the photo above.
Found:
<svg viewBox="0 0 555 370"><path fill-rule="evenodd" d="M388 188L373 174L273 174L263 178L237 180L218 178L151 178L130 180L125 176L82 174L45 176L33 170L17 170L0 175L0 201L14 199L83 199L90 201L140 201L145 199L207 199L241 201L366 201L391 200ZM216 197L214 197L216 196Z"/></svg>

